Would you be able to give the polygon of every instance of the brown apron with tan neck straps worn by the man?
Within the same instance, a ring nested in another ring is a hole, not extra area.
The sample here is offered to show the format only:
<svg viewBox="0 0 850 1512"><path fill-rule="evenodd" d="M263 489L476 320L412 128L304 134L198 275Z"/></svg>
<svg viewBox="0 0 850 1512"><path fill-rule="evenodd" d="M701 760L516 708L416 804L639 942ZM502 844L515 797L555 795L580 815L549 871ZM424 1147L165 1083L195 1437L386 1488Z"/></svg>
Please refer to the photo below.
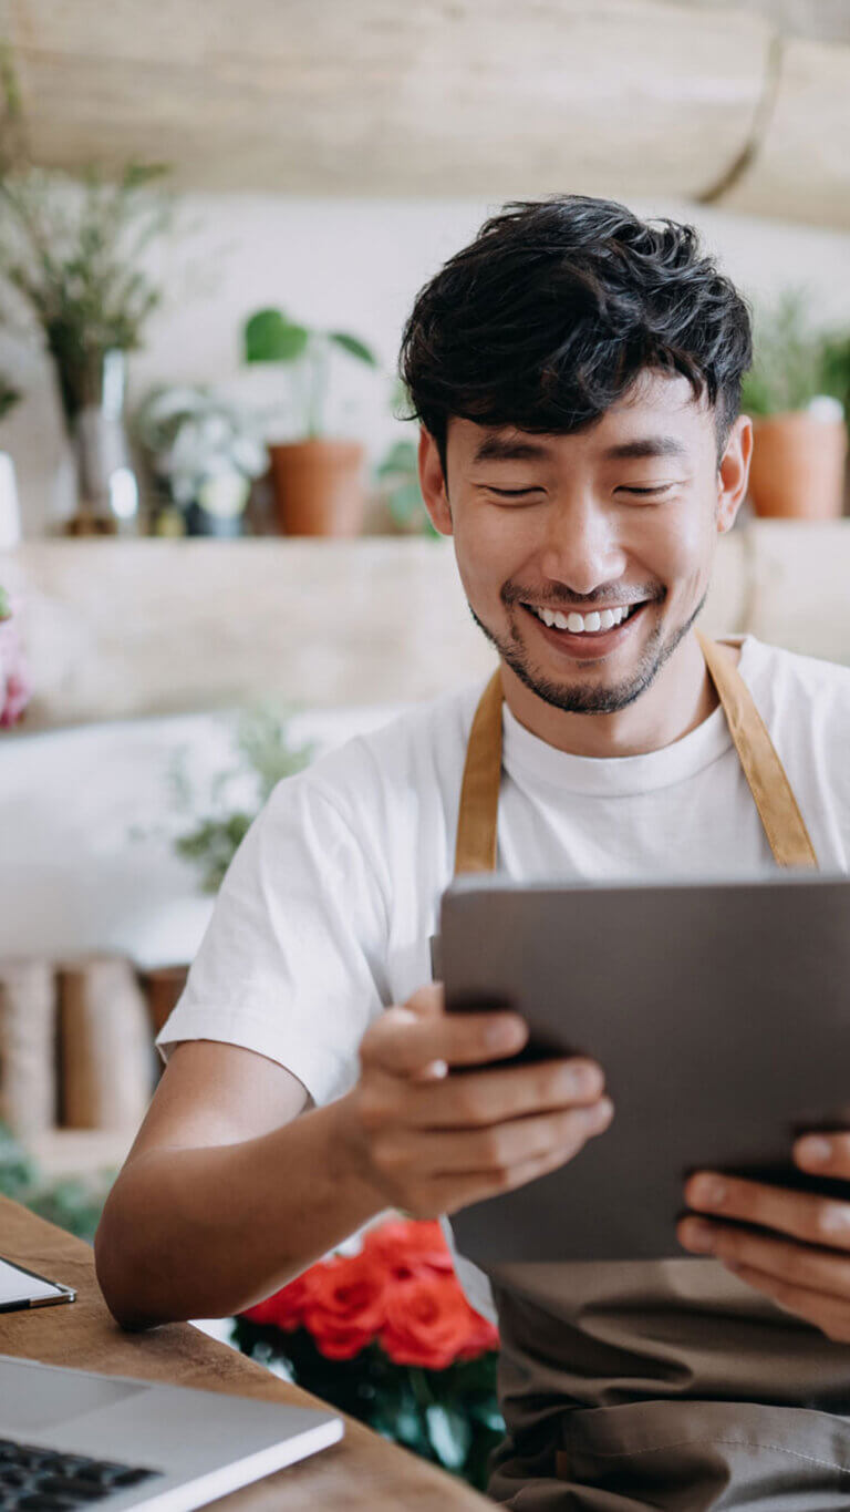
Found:
<svg viewBox="0 0 850 1512"><path fill-rule="evenodd" d="M723 646L698 637L773 856L817 856ZM479 703L456 874L497 863L501 680ZM848 1072L850 1074L850 1072ZM850 1507L850 1347L717 1261L500 1266L507 1436L489 1494L516 1512Z"/></svg>

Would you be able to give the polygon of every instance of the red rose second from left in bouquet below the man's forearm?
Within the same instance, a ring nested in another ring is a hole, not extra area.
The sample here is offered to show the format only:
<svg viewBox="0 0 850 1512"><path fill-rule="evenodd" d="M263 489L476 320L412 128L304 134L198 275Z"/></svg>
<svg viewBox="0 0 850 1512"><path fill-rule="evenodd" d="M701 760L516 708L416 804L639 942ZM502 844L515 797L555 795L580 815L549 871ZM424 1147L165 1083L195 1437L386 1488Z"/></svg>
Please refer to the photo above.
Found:
<svg viewBox="0 0 850 1512"><path fill-rule="evenodd" d="M368 1255L346 1255L313 1266L302 1320L329 1359L350 1359L383 1323L387 1276Z"/></svg>

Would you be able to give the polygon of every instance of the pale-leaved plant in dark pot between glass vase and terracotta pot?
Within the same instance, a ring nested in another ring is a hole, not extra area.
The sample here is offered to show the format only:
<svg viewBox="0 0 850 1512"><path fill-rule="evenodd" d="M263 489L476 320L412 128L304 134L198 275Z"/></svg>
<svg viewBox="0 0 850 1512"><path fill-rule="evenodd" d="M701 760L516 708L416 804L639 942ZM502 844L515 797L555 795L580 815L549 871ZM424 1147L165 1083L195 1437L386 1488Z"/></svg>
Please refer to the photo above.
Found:
<svg viewBox="0 0 850 1512"><path fill-rule="evenodd" d="M166 510L157 534L240 535L252 478L266 472L260 426L240 405L205 387L157 386L136 413L136 435Z"/></svg>

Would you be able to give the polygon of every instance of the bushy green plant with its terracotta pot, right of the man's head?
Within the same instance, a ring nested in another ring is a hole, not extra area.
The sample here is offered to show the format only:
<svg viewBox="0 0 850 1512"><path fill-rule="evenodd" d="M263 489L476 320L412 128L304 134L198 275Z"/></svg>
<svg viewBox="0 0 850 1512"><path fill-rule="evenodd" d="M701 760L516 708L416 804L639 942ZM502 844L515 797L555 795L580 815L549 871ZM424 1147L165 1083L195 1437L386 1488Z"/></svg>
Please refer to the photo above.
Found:
<svg viewBox="0 0 850 1512"><path fill-rule="evenodd" d="M755 324L741 404L753 417L749 496L756 514L830 520L842 513L850 336L817 331L787 293Z"/></svg>

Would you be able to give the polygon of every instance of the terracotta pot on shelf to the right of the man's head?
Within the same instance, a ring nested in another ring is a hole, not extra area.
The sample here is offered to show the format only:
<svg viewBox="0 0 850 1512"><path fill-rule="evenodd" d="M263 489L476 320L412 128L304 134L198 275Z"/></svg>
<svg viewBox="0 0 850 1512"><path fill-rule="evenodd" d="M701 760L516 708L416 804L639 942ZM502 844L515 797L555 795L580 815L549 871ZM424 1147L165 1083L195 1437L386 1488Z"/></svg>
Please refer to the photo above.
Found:
<svg viewBox="0 0 850 1512"><path fill-rule="evenodd" d="M805 410L753 422L749 496L756 514L835 520L844 508L844 420Z"/></svg>

